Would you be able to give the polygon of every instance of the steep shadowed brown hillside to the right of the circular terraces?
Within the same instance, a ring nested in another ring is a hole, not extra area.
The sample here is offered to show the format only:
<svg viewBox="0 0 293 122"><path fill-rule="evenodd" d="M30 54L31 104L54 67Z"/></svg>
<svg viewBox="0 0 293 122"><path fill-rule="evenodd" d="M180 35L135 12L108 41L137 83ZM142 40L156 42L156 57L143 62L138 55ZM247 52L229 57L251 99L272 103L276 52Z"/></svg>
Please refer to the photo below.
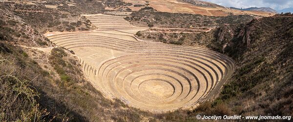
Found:
<svg viewBox="0 0 293 122"><path fill-rule="evenodd" d="M254 19L247 24L225 25L196 34L140 35L157 41L170 40L167 43L171 44L206 47L237 62L238 68L219 97L193 112L212 115L213 106L224 103L230 106L224 115L293 115L293 15Z"/></svg>

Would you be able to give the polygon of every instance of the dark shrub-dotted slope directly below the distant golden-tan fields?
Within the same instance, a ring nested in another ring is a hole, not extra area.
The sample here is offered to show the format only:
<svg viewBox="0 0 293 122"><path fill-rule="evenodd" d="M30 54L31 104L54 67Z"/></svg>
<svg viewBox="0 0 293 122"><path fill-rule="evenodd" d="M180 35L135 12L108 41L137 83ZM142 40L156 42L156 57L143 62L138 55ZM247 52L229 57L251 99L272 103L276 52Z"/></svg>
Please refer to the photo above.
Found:
<svg viewBox="0 0 293 122"><path fill-rule="evenodd" d="M212 28L225 24L246 23L252 20L250 15L212 17L193 14L158 12L145 7L133 12L125 20L137 26L170 27L170 28Z"/></svg>

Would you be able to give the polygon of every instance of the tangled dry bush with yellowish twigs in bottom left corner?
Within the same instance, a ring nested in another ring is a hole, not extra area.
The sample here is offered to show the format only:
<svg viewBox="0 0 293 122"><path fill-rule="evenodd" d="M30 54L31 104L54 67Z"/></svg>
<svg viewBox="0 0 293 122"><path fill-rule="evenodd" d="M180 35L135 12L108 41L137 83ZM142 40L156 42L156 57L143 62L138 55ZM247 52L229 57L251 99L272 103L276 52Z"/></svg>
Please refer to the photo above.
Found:
<svg viewBox="0 0 293 122"><path fill-rule="evenodd" d="M14 61L3 59L0 54L0 121L44 121L49 113L40 109L37 90L30 81L18 78L18 67Z"/></svg>

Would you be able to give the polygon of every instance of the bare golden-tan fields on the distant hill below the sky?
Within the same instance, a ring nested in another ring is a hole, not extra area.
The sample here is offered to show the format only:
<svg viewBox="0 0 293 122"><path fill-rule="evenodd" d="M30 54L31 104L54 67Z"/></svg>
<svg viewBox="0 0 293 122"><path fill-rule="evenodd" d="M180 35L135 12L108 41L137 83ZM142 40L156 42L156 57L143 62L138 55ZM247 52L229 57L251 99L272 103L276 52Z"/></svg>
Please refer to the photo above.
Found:
<svg viewBox="0 0 293 122"><path fill-rule="evenodd" d="M115 0L120 1L120 0ZM139 11L145 7L152 7L159 12L198 14L205 16L252 15L272 16L274 13L261 11L240 11L228 9L224 6L200 0L121 0L121 4L107 6L106 10Z"/></svg>

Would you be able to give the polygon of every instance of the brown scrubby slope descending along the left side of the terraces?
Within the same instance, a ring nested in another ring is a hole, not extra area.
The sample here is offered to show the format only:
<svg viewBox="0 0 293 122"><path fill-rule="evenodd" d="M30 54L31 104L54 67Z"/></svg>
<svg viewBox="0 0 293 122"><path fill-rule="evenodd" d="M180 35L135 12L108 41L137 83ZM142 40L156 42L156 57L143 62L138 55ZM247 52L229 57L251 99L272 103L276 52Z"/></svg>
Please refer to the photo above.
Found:
<svg viewBox="0 0 293 122"><path fill-rule="evenodd" d="M3 14L3 13L2 13ZM7 14L7 15L6 15ZM41 49L50 50L49 43L39 31L27 24L19 16L15 16L12 12L1 15L1 28L9 27L12 31L18 30L22 25L30 27L34 33L23 33L27 36L26 40L17 41L19 38L14 33L1 29L0 53L2 59L9 63L1 63L2 69L13 67L15 73L13 78L8 81L4 78L7 73L1 72L1 87L8 87L9 84L18 86L17 89L24 89L31 92L21 96L16 91L1 91L0 102L9 103L13 98L17 98L19 102L12 104L15 108L20 104L26 107L19 107L14 111L7 113L6 107L1 111L1 121L174 121L182 120L182 117L188 117L188 114L182 114L182 110L171 112L168 114L153 114L144 112L136 108L132 108L119 100L109 101L105 99L99 91L97 91L89 81L83 77L80 64L69 51L63 48L53 48L49 53L43 52L38 48L24 48L19 45L28 47L42 47ZM17 19L13 19L17 18ZM7 21L15 20L15 25L10 26ZM31 34L31 35L30 35ZM9 37L9 38L8 38ZM40 40L36 40L40 38ZM34 43L46 42L42 46ZM10 63L14 62L14 63ZM8 68L9 69L9 68ZM15 82L11 84L10 82ZM22 84L23 86L19 86ZM10 87L9 86L9 87ZM13 93L13 94L12 94ZM14 95L14 96L13 96ZM3 97L2 96L8 96ZM29 96L29 97L27 97ZM9 105L8 105L9 106ZM21 111L21 112L20 112ZM3 116L5 115L5 116ZM175 118L173 117L174 115ZM184 115L184 116L182 116ZM177 118L180 117L180 118ZM194 119L194 118L193 118Z"/></svg>

